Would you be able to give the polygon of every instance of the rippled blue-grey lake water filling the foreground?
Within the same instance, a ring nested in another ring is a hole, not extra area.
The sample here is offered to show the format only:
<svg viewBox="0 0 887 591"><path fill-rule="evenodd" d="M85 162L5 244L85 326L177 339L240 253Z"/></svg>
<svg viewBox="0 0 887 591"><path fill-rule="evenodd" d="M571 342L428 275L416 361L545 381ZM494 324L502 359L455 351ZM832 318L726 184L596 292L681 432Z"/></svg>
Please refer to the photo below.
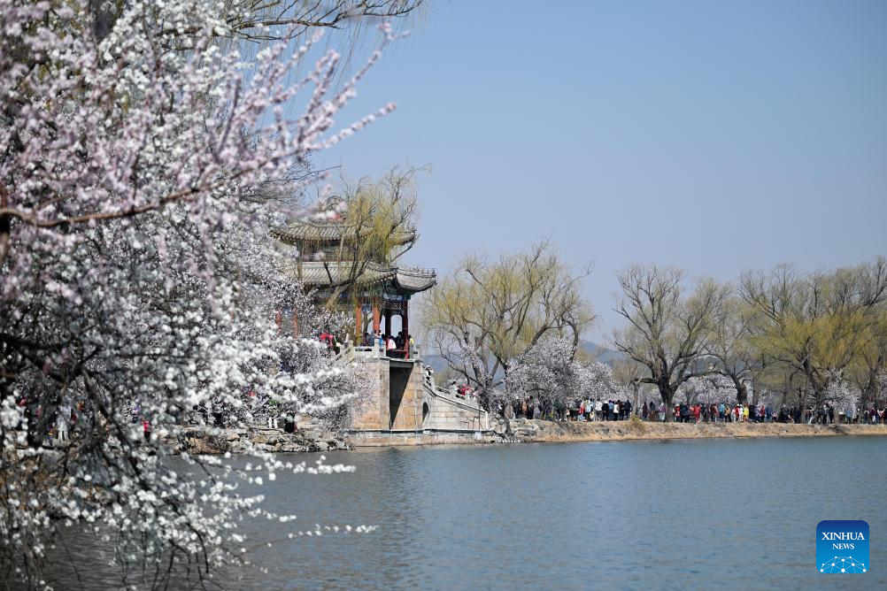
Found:
<svg viewBox="0 0 887 591"><path fill-rule="evenodd" d="M255 551L268 572L231 572L229 585L887 588L885 452L887 439L822 438L331 453L357 471L264 486L271 509L299 519L245 525L285 541ZM816 571L822 519L868 522L869 572ZM315 524L380 527L286 540Z"/></svg>

